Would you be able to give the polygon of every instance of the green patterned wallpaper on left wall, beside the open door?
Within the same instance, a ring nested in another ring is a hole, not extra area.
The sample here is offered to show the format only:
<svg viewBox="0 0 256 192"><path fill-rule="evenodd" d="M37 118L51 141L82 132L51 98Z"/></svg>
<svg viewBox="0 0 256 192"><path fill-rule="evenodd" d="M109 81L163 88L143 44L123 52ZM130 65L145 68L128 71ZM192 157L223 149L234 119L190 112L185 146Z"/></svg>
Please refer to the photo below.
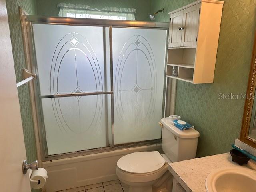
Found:
<svg viewBox="0 0 256 192"><path fill-rule="evenodd" d="M22 80L22 69L26 68L18 8L19 6L26 10L26 12L29 14L36 14L36 3L34 0L6 0L17 82ZM29 89L27 84L18 88L18 95L27 160L28 162L32 162L36 160L36 143L30 108Z"/></svg>

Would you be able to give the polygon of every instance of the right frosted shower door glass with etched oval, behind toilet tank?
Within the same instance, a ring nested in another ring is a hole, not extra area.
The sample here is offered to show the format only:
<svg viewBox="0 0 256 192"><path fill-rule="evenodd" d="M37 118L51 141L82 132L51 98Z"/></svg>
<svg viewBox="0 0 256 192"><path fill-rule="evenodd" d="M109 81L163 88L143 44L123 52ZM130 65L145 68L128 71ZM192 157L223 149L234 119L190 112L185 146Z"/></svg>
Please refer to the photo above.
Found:
<svg viewBox="0 0 256 192"><path fill-rule="evenodd" d="M161 138L166 35L113 28L115 144Z"/></svg>

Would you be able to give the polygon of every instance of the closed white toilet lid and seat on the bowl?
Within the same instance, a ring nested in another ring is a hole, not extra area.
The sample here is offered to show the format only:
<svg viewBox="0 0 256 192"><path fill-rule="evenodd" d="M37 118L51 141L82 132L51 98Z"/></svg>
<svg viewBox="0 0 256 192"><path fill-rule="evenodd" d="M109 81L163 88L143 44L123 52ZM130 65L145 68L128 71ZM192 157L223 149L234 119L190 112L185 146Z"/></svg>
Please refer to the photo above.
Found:
<svg viewBox="0 0 256 192"><path fill-rule="evenodd" d="M121 157L117 167L132 174L148 174L162 168L165 162L158 151L135 152Z"/></svg>

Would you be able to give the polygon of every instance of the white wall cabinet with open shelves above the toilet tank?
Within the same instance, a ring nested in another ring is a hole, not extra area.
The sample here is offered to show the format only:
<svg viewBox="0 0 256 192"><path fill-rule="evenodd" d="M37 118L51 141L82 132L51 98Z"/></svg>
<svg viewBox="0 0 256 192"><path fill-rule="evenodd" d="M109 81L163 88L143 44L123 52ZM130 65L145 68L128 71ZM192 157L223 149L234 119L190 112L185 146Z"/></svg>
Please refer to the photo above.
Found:
<svg viewBox="0 0 256 192"><path fill-rule="evenodd" d="M213 82L223 4L198 0L169 13L167 77Z"/></svg>

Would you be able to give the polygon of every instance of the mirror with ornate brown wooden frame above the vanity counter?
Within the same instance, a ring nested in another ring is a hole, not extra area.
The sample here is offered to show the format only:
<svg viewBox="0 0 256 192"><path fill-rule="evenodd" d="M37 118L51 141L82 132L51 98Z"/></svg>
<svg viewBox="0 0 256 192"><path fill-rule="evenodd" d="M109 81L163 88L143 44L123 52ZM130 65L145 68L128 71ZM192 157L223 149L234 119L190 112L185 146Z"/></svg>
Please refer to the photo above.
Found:
<svg viewBox="0 0 256 192"><path fill-rule="evenodd" d="M256 36L254 38L254 48L252 51L252 61L249 74L249 81L246 92L246 100L244 105L244 116L240 140L254 148L256 148Z"/></svg>

